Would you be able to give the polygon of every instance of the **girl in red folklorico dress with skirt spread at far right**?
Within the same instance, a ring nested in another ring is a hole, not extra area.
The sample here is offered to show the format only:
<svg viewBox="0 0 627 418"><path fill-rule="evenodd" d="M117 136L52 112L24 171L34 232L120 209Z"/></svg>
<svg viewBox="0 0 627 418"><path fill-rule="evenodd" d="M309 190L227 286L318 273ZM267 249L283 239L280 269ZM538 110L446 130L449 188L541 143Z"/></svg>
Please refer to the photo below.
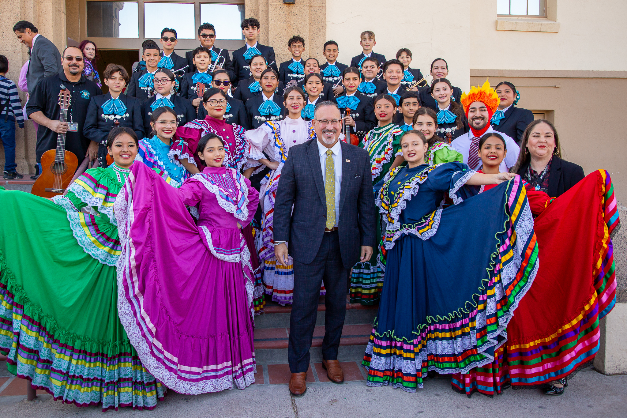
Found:
<svg viewBox="0 0 627 418"><path fill-rule="evenodd" d="M501 135L483 135L481 171L498 174L505 152ZM540 267L493 361L453 375L453 390L468 397L475 391L492 397L510 386L563 394L567 380L594 360L599 320L616 303L611 235L619 219L608 172L592 172L557 198L522 184L535 218Z"/></svg>

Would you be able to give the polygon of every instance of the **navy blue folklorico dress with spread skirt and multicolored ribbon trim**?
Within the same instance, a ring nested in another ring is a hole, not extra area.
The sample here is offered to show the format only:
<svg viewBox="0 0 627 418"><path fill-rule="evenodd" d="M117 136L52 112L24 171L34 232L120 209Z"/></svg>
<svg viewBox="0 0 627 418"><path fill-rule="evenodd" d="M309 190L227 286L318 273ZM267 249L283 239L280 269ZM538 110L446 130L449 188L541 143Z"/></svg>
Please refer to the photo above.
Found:
<svg viewBox="0 0 627 418"><path fill-rule="evenodd" d="M519 176L477 194L473 174L458 162L398 167L375 186L385 276L369 386L415 392L428 370L466 373L507 340L539 265L534 219Z"/></svg>

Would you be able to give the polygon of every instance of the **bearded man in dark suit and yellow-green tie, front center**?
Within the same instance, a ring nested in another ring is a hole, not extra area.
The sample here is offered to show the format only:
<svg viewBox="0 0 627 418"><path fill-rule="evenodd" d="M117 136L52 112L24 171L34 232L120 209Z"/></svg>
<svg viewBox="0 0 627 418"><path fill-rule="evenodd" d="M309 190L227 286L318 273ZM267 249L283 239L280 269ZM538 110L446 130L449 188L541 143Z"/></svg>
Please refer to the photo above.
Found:
<svg viewBox="0 0 627 418"><path fill-rule="evenodd" d="M346 314L348 272L369 261L376 217L368 152L339 140L342 116L333 102L316 105L316 140L290 148L281 172L274 211L275 256L283 266L294 259L290 315L290 392L307 389L309 348L324 279L325 335L322 367L332 382L344 381L337 360ZM293 211L292 211L293 206Z"/></svg>

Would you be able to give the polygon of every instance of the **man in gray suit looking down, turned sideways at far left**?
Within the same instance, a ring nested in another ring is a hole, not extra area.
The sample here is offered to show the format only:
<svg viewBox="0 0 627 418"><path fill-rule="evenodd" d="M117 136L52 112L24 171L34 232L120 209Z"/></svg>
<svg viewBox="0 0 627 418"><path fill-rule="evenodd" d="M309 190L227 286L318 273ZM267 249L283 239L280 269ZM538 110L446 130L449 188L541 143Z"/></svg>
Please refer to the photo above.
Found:
<svg viewBox="0 0 627 418"><path fill-rule="evenodd" d="M58 74L61 68L61 54L50 39L44 38L29 21L21 20L13 26L13 32L21 43L31 50L31 60L26 73L28 95L32 96L39 81L49 75Z"/></svg>

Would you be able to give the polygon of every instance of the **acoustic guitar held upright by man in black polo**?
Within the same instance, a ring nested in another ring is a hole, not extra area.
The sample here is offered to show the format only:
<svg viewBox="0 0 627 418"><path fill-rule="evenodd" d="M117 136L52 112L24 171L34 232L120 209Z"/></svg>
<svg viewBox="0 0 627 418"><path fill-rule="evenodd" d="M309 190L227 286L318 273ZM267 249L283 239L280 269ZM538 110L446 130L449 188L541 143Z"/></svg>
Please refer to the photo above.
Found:
<svg viewBox="0 0 627 418"><path fill-rule="evenodd" d="M59 106L61 107L59 120L67 122L71 94L64 85L61 85L61 89L59 92ZM76 167L78 167L76 155L65 150L65 133L58 133L56 150L48 150L41 155L41 175L34 182L31 193L41 197L60 196L70 185Z"/></svg>

